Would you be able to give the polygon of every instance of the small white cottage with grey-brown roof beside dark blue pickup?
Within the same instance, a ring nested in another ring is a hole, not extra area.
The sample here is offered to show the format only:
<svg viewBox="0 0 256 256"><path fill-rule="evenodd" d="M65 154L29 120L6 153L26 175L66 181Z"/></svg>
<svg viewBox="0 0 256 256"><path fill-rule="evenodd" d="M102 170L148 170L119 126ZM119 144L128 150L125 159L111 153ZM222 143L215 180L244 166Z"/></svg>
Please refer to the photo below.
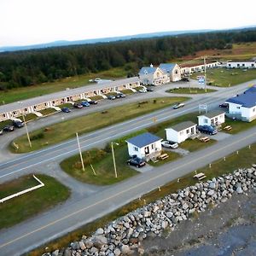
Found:
<svg viewBox="0 0 256 256"><path fill-rule="evenodd" d="M221 125L225 122L224 111L212 111L210 113L201 114L198 118L198 125Z"/></svg>

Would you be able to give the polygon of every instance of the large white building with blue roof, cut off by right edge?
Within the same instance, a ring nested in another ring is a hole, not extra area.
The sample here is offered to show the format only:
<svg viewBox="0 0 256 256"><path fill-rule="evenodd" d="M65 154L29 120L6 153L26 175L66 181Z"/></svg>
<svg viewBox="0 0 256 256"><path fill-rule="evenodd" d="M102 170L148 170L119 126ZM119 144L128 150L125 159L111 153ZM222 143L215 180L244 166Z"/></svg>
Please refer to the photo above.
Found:
<svg viewBox="0 0 256 256"><path fill-rule="evenodd" d="M241 95L231 97L229 103L229 115L242 121L251 122L256 119L256 85L247 89Z"/></svg>

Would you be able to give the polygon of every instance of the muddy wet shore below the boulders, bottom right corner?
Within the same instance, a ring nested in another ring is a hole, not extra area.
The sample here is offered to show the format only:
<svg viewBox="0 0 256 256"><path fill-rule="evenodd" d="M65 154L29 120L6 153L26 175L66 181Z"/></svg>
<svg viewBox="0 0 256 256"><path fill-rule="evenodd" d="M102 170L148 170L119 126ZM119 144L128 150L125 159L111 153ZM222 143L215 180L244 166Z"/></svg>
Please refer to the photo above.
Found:
<svg viewBox="0 0 256 256"><path fill-rule="evenodd" d="M142 242L144 255L255 255L256 192L234 195ZM207 252L207 253L206 253Z"/></svg>

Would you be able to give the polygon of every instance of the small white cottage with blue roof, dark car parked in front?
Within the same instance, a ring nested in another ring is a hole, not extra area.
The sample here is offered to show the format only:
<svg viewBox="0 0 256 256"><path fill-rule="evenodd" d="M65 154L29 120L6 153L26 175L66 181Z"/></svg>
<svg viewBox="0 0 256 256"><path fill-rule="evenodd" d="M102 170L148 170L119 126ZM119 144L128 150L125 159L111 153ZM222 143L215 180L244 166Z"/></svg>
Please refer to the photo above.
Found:
<svg viewBox="0 0 256 256"><path fill-rule="evenodd" d="M131 137L126 141L128 146L128 153L132 157L137 155L138 158L143 160L150 160L161 154L161 138L149 132Z"/></svg>

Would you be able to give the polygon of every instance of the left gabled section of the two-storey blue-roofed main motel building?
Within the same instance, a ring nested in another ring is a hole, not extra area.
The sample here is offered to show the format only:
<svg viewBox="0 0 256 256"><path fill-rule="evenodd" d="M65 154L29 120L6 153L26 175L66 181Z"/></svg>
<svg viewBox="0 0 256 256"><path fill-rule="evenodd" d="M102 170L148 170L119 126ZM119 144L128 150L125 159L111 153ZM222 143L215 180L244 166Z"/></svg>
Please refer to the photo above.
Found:
<svg viewBox="0 0 256 256"><path fill-rule="evenodd" d="M168 75L152 64L150 67L142 67L138 75L143 84L160 85L170 82Z"/></svg>

